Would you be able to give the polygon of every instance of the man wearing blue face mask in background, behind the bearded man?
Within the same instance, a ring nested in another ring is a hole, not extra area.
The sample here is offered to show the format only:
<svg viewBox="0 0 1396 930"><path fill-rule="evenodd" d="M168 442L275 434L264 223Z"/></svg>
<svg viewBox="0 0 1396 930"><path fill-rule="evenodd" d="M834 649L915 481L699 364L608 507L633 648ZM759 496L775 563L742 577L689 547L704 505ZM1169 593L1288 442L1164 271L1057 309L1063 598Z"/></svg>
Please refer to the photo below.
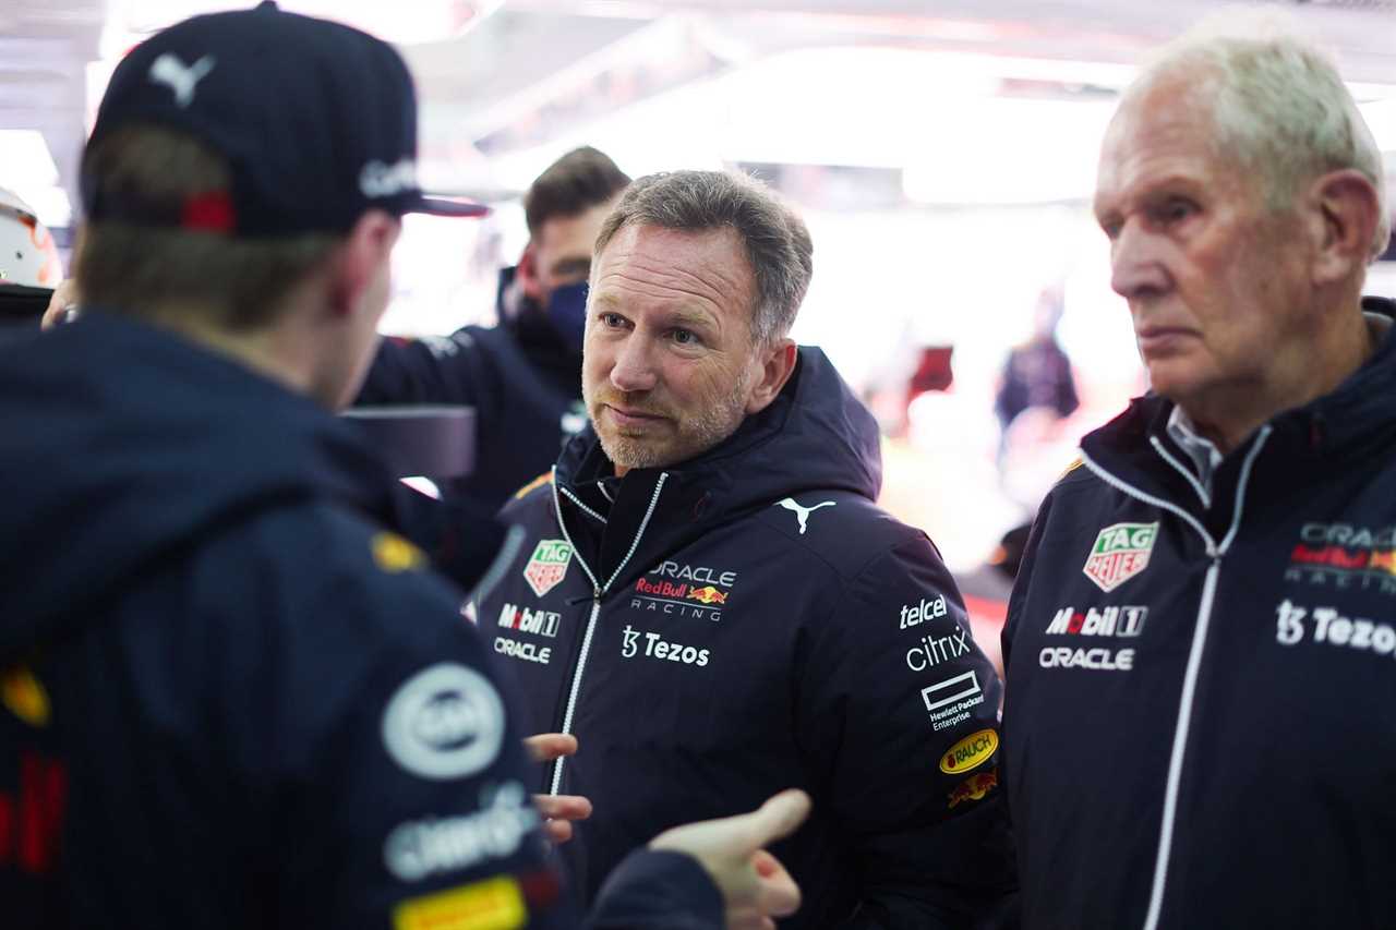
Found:
<svg viewBox="0 0 1396 930"><path fill-rule="evenodd" d="M493 514L582 429L582 325L592 244L630 177L595 148L557 159L524 195L529 242L500 274L498 325L384 341L357 404L475 408L475 471L447 490Z"/></svg>

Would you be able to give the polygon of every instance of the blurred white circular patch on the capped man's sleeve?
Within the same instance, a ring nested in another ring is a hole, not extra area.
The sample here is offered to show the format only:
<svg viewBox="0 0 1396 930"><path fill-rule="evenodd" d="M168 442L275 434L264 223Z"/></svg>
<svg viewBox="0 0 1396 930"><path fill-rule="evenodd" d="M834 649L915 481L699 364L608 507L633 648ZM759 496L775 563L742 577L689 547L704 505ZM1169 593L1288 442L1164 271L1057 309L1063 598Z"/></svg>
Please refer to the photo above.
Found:
<svg viewBox="0 0 1396 930"><path fill-rule="evenodd" d="M504 704L483 674L441 662L413 674L388 701L383 743L413 775L475 775L500 754Z"/></svg>

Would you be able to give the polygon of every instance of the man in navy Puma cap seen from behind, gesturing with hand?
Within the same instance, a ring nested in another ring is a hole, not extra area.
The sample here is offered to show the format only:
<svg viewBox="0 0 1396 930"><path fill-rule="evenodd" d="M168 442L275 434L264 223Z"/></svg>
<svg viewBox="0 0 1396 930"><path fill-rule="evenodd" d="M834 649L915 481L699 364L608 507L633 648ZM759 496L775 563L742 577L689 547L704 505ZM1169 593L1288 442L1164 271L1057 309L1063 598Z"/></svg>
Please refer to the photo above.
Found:
<svg viewBox="0 0 1396 930"><path fill-rule="evenodd" d="M477 212L415 158L401 57L272 4L113 74L81 318L0 352L7 929L575 926L463 595L331 415L401 216ZM660 836L588 926L768 926L807 804Z"/></svg>

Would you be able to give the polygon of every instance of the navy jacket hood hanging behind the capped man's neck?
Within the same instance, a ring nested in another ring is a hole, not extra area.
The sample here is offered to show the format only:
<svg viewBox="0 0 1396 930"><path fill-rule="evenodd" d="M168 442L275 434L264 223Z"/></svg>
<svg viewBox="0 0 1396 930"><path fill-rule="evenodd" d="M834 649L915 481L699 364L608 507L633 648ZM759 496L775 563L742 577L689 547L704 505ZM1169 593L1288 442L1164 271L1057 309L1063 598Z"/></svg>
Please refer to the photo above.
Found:
<svg viewBox="0 0 1396 930"><path fill-rule="evenodd" d="M391 472L352 425L103 313L0 350L0 663L265 507L392 508Z"/></svg>

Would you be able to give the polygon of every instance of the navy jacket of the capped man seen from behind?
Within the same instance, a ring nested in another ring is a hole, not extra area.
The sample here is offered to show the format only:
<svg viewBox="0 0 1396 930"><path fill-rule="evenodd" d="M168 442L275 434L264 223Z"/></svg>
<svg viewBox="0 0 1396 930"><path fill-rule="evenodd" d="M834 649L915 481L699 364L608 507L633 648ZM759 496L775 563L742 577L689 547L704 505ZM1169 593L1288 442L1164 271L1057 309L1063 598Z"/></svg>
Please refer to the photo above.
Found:
<svg viewBox="0 0 1396 930"><path fill-rule="evenodd" d="M0 350L0 923L574 926L512 697L349 423L89 310ZM599 927L718 927L641 853ZM627 881L628 880L628 881Z"/></svg>

